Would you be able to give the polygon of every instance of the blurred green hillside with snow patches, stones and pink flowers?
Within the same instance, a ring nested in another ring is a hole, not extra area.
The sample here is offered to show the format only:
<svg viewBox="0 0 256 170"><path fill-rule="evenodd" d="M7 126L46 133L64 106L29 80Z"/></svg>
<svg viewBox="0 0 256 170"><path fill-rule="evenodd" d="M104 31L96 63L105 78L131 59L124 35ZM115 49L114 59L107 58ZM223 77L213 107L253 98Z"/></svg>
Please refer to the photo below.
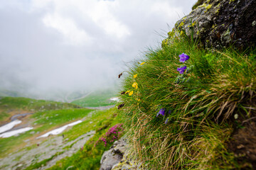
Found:
<svg viewBox="0 0 256 170"><path fill-rule="evenodd" d="M116 108L98 111L73 103L0 97L0 118L0 169L99 169L103 152L114 142L111 137L122 135ZM15 121L11 129L6 127ZM25 128L29 130L14 133Z"/></svg>

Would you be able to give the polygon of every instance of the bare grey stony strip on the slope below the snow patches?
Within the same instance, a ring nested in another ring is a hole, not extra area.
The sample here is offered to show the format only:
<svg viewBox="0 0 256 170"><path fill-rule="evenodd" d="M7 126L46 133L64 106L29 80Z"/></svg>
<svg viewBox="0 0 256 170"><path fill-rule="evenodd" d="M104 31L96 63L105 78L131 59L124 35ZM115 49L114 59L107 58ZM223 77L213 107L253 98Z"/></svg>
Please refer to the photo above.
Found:
<svg viewBox="0 0 256 170"><path fill-rule="evenodd" d="M93 135L95 135L95 131L92 130L72 141L68 141L67 138L67 141L64 143L62 136L51 137L43 142L38 141L36 147L28 150L21 149L1 159L0 167L5 167L5 169L26 169L31 164L49 159L53 155L60 153L46 164L43 164L38 170L48 169L60 159L70 157L78 152ZM22 164L22 168L18 167L19 164ZM70 167L71 169L75 169L75 167Z"/></svg>

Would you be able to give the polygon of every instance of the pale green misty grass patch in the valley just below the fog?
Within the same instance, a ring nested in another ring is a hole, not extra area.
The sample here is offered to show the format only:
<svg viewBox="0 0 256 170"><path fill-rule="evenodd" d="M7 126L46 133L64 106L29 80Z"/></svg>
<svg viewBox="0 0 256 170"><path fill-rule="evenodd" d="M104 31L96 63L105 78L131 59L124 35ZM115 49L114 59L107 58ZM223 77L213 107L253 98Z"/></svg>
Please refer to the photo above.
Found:
<svg viewBox="0 0 256 170"><path fill-rule="evenodd" d="M95 91L92 92L92 94L86 96L85 98L81 98L71 103L82 107L110 106L116 103L115 101L110 101L110 98L114 96L116 96L116 94L112 90Z"/></svg>

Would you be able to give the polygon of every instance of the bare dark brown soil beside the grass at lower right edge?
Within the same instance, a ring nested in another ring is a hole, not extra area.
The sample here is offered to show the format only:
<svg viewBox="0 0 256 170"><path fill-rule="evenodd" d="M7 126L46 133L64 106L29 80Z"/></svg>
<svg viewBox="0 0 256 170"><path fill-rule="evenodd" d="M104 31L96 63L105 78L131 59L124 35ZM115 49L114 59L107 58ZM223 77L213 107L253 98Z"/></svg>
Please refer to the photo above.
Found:
<svg viewBox="0 0 256 170"><path fill-rule="evenodd" d="M256 169L256 118L242 125L244 128L233 132L229 149L237 157L242 169Z"/></svg>

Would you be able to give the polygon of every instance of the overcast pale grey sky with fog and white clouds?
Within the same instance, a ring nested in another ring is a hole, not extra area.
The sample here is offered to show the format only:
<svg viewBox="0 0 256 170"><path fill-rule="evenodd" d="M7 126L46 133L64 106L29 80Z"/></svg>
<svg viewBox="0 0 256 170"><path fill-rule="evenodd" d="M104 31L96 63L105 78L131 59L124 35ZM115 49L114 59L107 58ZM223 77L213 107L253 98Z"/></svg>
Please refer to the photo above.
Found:
<svg viewBox="0 0 256 170"><path fill-rule="evenodd" d="M0 88L110 86L125 63L159 47L196 1L0 0Z"/></svg>

